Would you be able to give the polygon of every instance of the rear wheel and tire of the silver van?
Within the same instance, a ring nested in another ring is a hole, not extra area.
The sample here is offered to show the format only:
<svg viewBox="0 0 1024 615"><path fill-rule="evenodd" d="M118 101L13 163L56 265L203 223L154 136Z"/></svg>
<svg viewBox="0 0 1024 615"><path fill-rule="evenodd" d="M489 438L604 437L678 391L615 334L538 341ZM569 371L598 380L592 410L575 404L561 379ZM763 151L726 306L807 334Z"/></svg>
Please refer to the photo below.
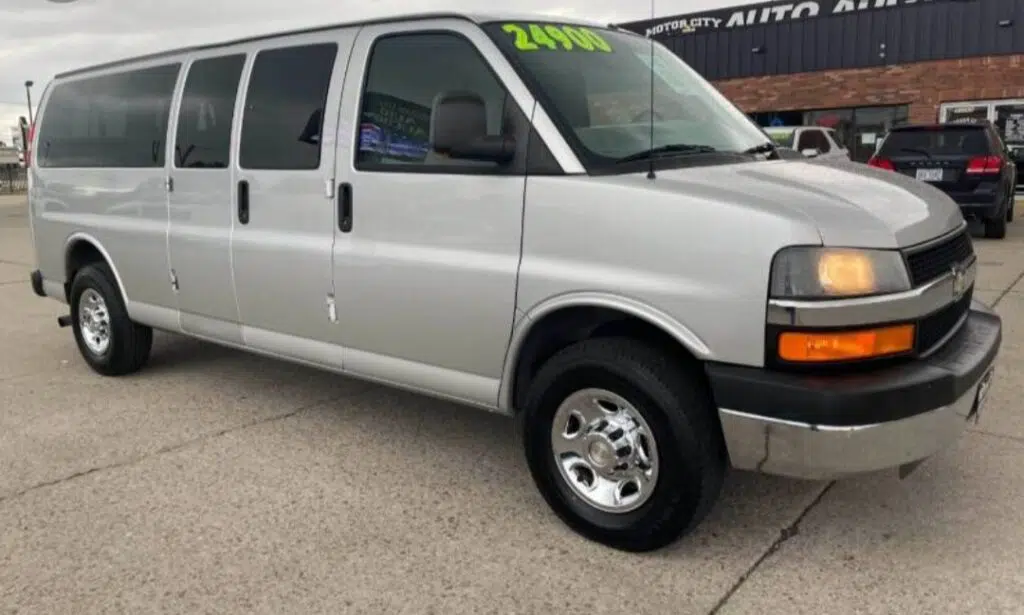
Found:
<svg viewBox="0 0 1024 615"><path fill-rule="evenodd" d="M71 284L70 303L75 342L89 367L102 376L125 376L145 365L153 330L128 317L106 263L79 269Z"/></svg>

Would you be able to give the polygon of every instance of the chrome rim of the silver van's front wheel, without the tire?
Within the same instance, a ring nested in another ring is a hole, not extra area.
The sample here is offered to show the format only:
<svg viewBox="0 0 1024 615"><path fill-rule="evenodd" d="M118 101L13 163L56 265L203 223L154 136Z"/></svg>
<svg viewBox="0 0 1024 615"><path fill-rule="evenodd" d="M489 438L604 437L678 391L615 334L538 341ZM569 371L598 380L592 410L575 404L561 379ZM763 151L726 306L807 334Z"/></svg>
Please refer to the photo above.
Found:
<svg viewBox="0 0 1024 615"><path fill-rule="evenodd" d="M562 479L600 511L635 511L654 491L657 448L650 427L610 391L569 395L555 411L551 448Z"/></svg>

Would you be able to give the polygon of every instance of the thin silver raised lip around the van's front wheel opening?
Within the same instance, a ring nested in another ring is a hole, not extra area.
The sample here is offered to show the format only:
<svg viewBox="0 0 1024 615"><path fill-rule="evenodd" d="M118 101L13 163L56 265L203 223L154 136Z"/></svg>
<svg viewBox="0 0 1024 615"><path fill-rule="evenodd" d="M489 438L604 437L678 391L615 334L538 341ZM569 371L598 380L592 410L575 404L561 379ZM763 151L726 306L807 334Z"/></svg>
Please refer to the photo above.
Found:
<svg viewBox="0 0 1024 615"><path fill-rule="evenodd" d="M696 334L676 318L651 305L610 293L582 292L557 295L536 304L513 326L508 351L505 353L502 382L498 388L499 410L509 414L514 411L512 408L512 381L522 345L534 325L548 314L572 307L607 308L645 320L648 324L652 324L671 336L697 359L709 360L712 358L711 349ZM522 310L519 311L522 312Z"/></svg>

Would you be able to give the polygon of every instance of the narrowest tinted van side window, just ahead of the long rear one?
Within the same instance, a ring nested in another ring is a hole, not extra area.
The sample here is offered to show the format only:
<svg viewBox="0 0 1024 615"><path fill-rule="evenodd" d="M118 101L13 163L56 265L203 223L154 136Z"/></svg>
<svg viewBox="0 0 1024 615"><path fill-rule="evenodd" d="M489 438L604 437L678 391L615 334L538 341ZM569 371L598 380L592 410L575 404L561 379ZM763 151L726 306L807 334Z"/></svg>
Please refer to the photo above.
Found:
<svg viewBox="0 0 1024 615"><path fill-rule="evenodd" d="M244 53L193 62L178 112L175 167L227 168L234 98L245 63Z"/></svg>

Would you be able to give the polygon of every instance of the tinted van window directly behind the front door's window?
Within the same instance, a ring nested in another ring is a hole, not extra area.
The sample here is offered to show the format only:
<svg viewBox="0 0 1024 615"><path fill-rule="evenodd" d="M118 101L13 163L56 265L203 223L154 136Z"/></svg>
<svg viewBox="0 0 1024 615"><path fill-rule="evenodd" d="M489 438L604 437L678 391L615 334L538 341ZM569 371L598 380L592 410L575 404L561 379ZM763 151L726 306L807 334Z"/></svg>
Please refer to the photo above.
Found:
<svg viewBox="0 0 1024 615"><path fill-rule="evenodd" d="M242 118L243 168L319 168L324 107L337 56L335 43L256 54Z"/></svg>

